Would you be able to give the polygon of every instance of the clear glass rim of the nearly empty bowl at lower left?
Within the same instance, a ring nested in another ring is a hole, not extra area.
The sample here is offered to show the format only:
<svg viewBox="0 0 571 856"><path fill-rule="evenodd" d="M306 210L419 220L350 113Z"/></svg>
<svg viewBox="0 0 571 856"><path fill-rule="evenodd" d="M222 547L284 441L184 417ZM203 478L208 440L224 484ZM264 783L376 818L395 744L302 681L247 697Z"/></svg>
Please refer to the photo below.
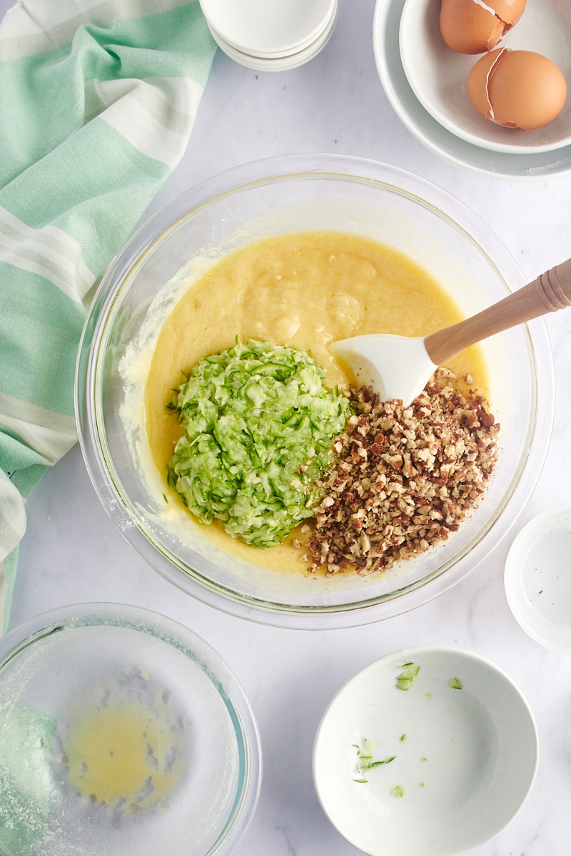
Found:
<svg viewBox="0 0 571 856"><path fill-rule="evenodd" d="M258 722L234 671L221 654L190 627L153 609L133 603L69 603L48 609L9 629L0 639L0 675L8 663L40 639L74 627L126 627L161 639L191 657L216 687L228 710L236 736L243 770L235 800L223 829L204 856L229 856L238 846L256 812L262 785L262 746ZM0 841L2 856L15 856Z"/></svg>

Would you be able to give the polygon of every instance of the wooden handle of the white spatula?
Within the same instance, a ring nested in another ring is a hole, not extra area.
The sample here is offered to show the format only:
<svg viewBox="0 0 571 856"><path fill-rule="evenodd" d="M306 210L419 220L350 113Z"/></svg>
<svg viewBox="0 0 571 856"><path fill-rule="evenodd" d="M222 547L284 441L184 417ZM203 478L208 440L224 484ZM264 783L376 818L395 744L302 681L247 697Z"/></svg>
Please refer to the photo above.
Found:
<svg viewBox="0 0 571 856"><path fill-rule="evenodd" d="M488 336L566 306L571 306L571 259L546 270L533 282L478 315L427 336L426 352L436 366L442 366Z"/></svg>

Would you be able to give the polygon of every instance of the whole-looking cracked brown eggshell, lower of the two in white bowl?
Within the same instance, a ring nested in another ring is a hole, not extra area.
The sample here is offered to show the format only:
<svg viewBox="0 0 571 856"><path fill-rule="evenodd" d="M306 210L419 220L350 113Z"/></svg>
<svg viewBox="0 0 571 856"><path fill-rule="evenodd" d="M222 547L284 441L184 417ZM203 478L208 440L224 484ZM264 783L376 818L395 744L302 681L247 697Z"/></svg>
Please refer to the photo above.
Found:
<svg viewBox="0 0 571 856"><path fill-rule="evenodd" d="M476 62L468 74L467 93L485 119L506 128L534 131L559 116L567 84L546 56L505 47Z"/></svg>

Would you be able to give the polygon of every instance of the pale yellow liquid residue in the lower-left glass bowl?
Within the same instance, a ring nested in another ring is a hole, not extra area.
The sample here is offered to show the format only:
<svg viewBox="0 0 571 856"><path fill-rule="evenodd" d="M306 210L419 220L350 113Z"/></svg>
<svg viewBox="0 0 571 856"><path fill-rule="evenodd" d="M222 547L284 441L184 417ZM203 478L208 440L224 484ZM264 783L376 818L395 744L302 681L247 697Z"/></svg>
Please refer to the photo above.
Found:
<svg viewBox="0 0 571 856"><path fill-rule="evenodd" d="M181 733L136 702L115 701L79 716L64 749L72 787L124 811L164 800L181 777Z"/></svg>

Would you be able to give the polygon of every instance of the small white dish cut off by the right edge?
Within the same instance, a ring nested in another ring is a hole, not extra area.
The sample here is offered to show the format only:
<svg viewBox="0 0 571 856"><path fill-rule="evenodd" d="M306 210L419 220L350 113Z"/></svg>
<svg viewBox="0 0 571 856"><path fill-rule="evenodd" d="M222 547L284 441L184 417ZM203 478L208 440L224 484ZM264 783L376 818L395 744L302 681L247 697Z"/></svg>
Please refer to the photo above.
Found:
<svg viewBox="0 0 571 856"><path fill-rule="evenodd" d="M523 527L509 549L504 581L514 618L552 651L571 654L571 504Z"/></svg>

